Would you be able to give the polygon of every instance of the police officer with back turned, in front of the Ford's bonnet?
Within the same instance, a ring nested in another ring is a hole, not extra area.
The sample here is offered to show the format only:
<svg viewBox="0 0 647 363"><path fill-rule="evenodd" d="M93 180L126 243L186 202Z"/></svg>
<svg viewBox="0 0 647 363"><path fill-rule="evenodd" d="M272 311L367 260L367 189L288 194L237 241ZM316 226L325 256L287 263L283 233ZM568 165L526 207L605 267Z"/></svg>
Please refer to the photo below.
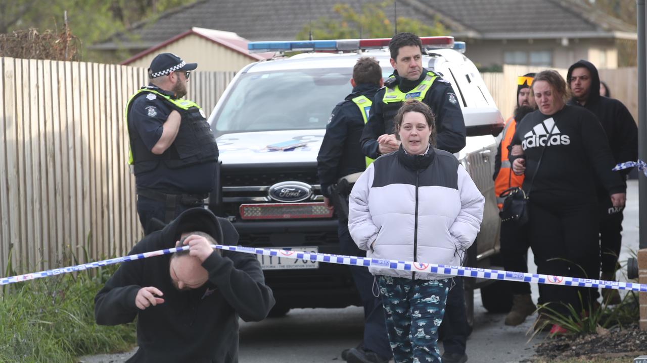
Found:
<svg viewBox="0 0 647 363"><path fill-rule="evenodd" d="M371 159L365 159L360 136L373 104L375 92L382 87L382 68L371 57L361 57L353 67L353 92L333 109L322 147L317 157L317 169L322 185L323 201L336 209L339 218L340 252L350 256L366 256L357 248L348 232L348 196L351 185L366 169ZM366 267L351 266L351 275L364 306L364 339L356 348L342 351L348 362L388 362L393 356L386 334L386 322L381 298L371 291L373 275Z"/></svg>

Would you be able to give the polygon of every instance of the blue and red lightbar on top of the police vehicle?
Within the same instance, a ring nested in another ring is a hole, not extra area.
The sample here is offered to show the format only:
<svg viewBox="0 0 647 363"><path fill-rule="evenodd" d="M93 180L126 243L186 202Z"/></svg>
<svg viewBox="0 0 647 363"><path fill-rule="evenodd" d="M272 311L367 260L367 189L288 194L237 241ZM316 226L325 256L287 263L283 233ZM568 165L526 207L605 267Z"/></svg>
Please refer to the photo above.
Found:
<svg viewBox="0 0 647 363"><path fill-rule="evenodd" d="M421 37L422 48L454 48L454 37ZM337 40L296 40L296 41L251 41L247 44L250 53L308 51L352 51L381 49L389 47L391 38L381 39L337 39Z"/></svg>

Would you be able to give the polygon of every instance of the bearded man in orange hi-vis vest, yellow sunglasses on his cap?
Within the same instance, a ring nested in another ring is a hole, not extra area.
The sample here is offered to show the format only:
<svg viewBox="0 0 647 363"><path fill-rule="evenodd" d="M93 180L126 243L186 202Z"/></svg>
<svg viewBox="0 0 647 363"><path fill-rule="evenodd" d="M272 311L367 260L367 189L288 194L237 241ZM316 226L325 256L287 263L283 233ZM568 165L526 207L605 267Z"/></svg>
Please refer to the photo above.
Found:
<svg viewBox="0 0 647 363"><path fill-rule="evenodd" d="M521 119L536 109L534 96L532 96L532 78L534 73L524 74L517 78L517 107L514 115L505 123L501 133L496 160L494 161L494 192L498 198L498 207L503 207L501 193L512 187L523 185L523 175L512 172L508 154L510 141ZM525 234L524 226L515 222L501 222L501 258L503 269L506 271L528 272L527 254L530 241ZM512 309L503 321L508 326L518 326L534 313L537 307L532 302L530 284L527 282L505 282L512 292Z"/></svg>

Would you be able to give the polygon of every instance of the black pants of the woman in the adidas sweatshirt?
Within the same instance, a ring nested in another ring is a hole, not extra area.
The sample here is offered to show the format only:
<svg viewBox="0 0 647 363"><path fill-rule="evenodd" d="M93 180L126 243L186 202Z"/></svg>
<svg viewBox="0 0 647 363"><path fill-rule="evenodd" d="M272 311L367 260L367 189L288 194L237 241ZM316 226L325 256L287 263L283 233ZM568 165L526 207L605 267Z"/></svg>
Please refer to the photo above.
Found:
<svg viewBox="0 0 647 363"><path fill-rule="evenodd" d="M597 200L579 205L540 205L530 200L532 253L537 273L578 278L597 278L600 269ZM550 278L549 278L550 281ZM582 296L582 304L580 297ZM597 289L539 284L540 299L558 313L588 309Z"/></svg>

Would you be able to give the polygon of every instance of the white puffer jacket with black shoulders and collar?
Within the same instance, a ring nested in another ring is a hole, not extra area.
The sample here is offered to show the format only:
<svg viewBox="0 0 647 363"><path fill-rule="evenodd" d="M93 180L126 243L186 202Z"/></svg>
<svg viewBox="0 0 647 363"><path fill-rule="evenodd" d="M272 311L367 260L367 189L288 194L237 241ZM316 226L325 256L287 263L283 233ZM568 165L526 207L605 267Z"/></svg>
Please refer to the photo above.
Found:
<svg viewBox="0 0 647 363"><path fill-rule="evenodd" d="M485 198L453 154L402 147L375 160L351 192L348 228L367 257L461 265L483 220ZM437 280L446 275L369 267L373 275Z"/></svg>

